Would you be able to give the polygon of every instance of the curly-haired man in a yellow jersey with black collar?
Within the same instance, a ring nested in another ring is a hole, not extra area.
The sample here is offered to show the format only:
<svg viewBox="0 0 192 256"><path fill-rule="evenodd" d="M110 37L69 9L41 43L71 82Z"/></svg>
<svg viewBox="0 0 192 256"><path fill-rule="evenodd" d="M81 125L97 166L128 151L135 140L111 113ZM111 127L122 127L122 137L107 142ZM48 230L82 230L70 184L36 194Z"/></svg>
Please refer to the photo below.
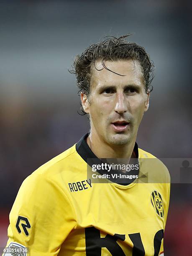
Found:
<svg viewBox="0 0 192 256"><path fill-rule="evenodd" d="M90 132L23 182L10 212L8 248L28 248L31 256L163 255L169 173L136 144L152 69L144 48L125 36L93 44L76 57L73 73ZM109 174L98 165L106 159L139 168L122 180L109 175L94 182L90 166L95 161L95 174ZM149 167L143 159L156 163ZM146 173L159 174L162 182L139 182Z"/></svg>

